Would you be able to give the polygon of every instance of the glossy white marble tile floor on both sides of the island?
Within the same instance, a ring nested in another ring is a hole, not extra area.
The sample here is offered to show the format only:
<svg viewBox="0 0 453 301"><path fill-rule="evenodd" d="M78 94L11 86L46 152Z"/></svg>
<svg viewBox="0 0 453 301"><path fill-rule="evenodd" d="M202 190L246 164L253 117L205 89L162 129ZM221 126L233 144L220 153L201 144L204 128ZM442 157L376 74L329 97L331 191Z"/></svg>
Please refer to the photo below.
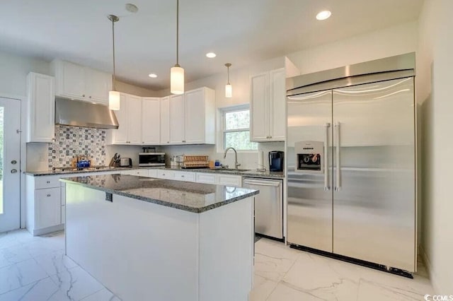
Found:
<svg viewBox="0 0 453 301"><path fill-rule="evenodd" d="M260 238L255 244L251 301L399 301L434 295L423 264L414 279L290 249ZM120 300L64 255L64 232L33 237L0 233L0 301Z"/></svg>

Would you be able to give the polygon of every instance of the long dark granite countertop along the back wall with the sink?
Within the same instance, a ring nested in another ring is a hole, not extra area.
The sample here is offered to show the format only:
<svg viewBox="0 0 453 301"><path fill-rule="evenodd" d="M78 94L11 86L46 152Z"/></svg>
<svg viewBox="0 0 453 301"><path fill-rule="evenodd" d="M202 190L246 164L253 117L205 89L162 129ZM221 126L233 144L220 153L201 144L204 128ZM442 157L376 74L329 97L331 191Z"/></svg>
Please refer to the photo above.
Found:
<svg viewBox="0 0 453 301"><path fill-rule="evenodd" d="M27 171L25 175L33 175L34 177L38 176L46 176L46 175L71 175L71 174L79 174L79 173L86 173L86 172L108 172L108 171L115 171L115 170L137 170L137 169L164 169L164 170L178 170L182 172L213 172L217 174L223 175L239 175L242 177L266 177L266 178L284 178L285 172L257 172L256 170L247 170L243 172L234 171L234 170L222 170L219 168L193 168L193 169L184 169L180 167L111 167L111 168L101 168L99 170L38 170L38 171Z"/></svg>

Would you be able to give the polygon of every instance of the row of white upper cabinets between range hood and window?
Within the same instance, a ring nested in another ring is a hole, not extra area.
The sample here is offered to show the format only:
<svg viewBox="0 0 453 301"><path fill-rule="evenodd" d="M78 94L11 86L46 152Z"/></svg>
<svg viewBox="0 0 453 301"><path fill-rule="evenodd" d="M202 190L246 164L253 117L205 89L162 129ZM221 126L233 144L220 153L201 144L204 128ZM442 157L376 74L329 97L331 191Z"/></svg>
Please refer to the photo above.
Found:
<svg viewBox="0 0 453 301"><path fill-rule="evenodd" d="M185 145L215 143L215 91L190 90L165 98L139 98L121 93L115 111L118 129L113 144Z"/></svg>

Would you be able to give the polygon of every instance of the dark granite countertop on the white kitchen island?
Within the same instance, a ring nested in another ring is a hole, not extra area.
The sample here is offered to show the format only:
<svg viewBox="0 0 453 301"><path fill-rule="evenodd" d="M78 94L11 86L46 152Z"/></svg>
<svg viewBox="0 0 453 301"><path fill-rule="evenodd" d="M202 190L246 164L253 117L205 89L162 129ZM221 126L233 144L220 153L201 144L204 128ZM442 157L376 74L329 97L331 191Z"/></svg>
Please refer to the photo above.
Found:
<svg viewBox="0 0 453 301"><path fill-rule="evenodd" d="M119 174L67 177L60 181L193 213L209 211L259 193L256 189ZM115 197L113 199L115 201Z"/></svg>

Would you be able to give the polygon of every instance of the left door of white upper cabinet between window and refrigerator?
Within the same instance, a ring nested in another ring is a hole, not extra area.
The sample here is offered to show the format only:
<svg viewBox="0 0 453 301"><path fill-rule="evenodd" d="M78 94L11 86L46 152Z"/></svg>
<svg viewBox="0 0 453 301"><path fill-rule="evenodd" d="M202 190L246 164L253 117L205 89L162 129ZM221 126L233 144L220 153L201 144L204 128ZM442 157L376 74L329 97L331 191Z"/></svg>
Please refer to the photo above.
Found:
<svg viewBox="0 0 453 301"><path fill-rule="evenodd" d="M268 140L268 73L251 78L251 141Z"/></svg>

